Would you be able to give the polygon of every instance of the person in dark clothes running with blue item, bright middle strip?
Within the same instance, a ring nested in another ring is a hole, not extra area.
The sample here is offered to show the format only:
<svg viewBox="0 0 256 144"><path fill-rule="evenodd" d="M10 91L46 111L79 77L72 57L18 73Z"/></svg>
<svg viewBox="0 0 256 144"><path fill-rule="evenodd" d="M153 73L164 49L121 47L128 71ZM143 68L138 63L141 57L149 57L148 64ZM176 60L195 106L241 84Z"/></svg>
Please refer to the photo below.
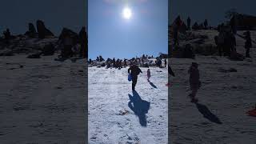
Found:
<svg viewBox="0 0 256 144"><path fill-rule="evenodd" d="M132 78L132 90L135 90L135 86L137 84L138 74L142 73L142 70L138 68L134 63L128 69L128 74L131 75Z"/></svg>

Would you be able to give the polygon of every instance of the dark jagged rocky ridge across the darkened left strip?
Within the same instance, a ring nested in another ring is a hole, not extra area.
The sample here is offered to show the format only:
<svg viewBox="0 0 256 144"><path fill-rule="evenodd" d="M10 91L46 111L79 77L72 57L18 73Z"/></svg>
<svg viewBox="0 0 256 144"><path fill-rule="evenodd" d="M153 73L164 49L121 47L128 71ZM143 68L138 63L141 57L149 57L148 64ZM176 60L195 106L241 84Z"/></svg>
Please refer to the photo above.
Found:
<svg viewBox="0 0 256 144"><path fill-rule="evenodd" d="M28 24L25 34L12 35L9 29L0 37L0 56L12 56L14 54L30 54L27 58L41 58L42 55L53 55L57 50L61 51L59 58L71 58L79 54L87 58L87 34L85 27L80 33L63 28L59 37L46 28L42 20ZM33 53L33 54L31 54Z"/></svg>

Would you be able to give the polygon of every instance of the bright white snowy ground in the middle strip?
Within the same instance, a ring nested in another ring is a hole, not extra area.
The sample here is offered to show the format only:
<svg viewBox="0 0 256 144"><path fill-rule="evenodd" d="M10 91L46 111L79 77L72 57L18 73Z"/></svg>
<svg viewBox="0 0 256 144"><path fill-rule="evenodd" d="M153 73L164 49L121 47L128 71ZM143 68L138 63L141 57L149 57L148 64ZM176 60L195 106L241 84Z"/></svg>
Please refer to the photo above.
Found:
<svg viewBox="0 0 256 144"><path fill-rule="evenodd" d="M151 84L146 70L142 68L138 76L136 94L127 80L127 68L89 68L90 144L167 143L167 69L150 68ZM130 99L134 102L128 106Z"/></svg>

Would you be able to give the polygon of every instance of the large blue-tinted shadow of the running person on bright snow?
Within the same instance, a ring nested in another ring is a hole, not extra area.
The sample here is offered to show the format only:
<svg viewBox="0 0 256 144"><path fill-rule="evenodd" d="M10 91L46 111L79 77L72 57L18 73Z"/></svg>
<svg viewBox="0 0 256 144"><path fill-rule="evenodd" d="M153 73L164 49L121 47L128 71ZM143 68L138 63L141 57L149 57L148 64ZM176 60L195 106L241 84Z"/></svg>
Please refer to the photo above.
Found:
<svg viewBox="0 0 256 144"><path fill-rule="evenodd" d="M130 110L133 110L134 114L138 116L141 126L146 126L146 114L150 110L150 102L142 100L135 90L133 91L133 94L134 96L128 94L130 98L128 106L130 107Z"/></svg>

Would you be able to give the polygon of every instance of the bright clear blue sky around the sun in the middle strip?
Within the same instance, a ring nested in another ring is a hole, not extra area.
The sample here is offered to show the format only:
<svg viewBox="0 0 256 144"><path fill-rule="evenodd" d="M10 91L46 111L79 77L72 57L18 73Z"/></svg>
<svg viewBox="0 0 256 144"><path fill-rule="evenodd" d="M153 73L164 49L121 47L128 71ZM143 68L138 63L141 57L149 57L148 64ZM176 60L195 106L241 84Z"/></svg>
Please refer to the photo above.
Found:
<svg viewBox="0 0 256 144"><path fill-rule="evenodd" d="M129 7L130 19L122 10ZM88 0L89 58L157 56L168 51L168 0Z"/></svg>

